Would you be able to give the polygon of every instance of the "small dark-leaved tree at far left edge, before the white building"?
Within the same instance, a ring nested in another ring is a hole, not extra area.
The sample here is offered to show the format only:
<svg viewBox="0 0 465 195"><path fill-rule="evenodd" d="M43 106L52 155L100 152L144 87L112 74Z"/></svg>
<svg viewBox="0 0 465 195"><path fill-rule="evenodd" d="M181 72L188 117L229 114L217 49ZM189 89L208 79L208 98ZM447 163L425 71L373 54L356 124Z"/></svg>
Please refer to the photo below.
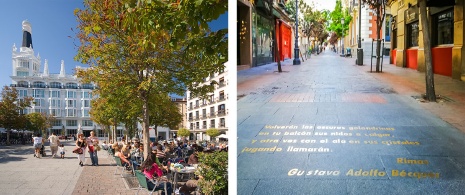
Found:
<svg viewBox="0 0 465 195"><path fill-rule="evenodd" d="M2 101L0 102L0 127L7 131L6 144L10 145L10 132L12 129L21 129L24 124L23 110L30 107L32 97L18 97L16 88L3 87Z"/></svg>

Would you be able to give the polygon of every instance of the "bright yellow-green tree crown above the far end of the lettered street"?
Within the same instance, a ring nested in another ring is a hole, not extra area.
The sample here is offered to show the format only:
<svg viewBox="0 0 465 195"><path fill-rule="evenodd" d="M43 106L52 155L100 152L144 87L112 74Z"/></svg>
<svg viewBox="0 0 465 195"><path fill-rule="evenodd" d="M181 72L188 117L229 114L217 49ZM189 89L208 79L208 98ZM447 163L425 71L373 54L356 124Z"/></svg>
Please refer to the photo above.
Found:
<svg viewBox="0 0 465 195"><path fill-rule="evenodd" d="M334 10L329 14L330 24L328 30L336 33L337 37L343 37L349 30L349 24L352 20L352 16L349 10L346 8L343 10L341 0L336 0L336 6ZM344 19L344 24L342 24Z"/></svg>

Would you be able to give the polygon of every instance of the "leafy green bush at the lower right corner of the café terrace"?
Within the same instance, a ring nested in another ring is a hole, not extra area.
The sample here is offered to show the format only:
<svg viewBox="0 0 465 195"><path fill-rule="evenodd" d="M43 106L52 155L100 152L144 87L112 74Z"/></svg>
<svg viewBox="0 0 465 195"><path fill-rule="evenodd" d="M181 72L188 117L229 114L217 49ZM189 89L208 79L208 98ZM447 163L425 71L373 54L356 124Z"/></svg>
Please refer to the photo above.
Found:
<svg viewBox="0 0 465 195"><path fill-rule="evenodd" d="M206 195L228 194L228 153L220 151L200 152L198 157L198 175L203 177L199 181L202 192Z"/></svg>

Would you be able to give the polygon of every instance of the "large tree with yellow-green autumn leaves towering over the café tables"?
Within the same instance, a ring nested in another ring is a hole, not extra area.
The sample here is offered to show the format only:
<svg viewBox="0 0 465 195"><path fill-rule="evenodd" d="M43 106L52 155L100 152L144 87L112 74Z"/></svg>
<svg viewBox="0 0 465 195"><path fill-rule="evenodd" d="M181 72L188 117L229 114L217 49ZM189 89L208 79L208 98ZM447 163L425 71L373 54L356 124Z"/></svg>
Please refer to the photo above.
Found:
<svg viewBox="0 0 465 195"><path fill-rule="evenodd" d="M227 1L218 0L85 0L84 9L75 10L76 59L91 66L77 75L102 92L121 92L113 100L131 97L125 106L141 110L144 156L151 151L152 95L213 91L214 85L194 84L224 67L227 29L212 31L208 22L226 10Z"/></svg>

